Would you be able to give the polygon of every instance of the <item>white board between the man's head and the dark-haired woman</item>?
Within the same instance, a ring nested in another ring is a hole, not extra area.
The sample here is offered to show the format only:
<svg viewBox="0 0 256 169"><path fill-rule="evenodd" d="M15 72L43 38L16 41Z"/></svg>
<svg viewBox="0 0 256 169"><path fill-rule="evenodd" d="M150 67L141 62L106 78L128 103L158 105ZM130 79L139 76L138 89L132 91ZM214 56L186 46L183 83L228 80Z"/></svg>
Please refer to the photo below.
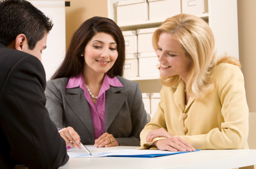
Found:
<svg viewBox="0 0 256 169"><path fill-rule="evenodd" d="M49 80L64 59L66 52L66 25L64 0L31 0L31 4L48 16L54 26L48 34L47 48L43 50L42 64Z"/></svg>

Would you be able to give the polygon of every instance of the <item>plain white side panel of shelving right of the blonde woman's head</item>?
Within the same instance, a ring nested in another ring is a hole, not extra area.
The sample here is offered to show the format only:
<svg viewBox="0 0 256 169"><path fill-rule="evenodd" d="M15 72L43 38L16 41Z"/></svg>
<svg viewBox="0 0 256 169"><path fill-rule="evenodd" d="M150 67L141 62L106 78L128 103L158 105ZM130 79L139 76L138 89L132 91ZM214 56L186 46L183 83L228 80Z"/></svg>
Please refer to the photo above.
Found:
<svg viewBox="0 0 256 169"><path fill-rule="evenodd" d="M216 40L217 55L239 59L236 0L208 0L209 25Z"/></svg>

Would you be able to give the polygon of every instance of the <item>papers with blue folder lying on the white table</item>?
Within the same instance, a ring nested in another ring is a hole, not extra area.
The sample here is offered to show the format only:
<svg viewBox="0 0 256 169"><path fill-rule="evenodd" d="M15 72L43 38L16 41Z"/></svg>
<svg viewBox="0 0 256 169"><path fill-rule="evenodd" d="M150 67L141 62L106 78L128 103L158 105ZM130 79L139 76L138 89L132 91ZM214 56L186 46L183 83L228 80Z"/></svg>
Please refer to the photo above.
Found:
<svg viewBox="0 0 256 169"><path fill-rule="evenodd" d="M198 150L196 150L198 151ZM189 152L169 152L161 150L137 150L137 149L122 149L122 150L111 150L105 152L92 152L92 156L83 151L68 151L67 154L70 158L78 157L102 157L102 156L119 156L119 157L137 157L137 158L151 158L157 156L165 155L175 155L179 153L189 153Z"/></svg>

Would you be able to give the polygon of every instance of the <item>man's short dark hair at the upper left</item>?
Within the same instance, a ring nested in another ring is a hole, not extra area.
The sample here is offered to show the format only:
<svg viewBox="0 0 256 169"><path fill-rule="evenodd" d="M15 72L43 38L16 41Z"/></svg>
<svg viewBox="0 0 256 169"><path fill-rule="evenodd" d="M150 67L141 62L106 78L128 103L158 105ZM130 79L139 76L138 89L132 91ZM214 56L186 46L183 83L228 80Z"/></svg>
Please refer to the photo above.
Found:
<svg viewBox="0 0 256 169"><path fill-rule="evenodd" d="M23 0L0 0L0 43L8 46L17 35L24 34L33 50L45 33L52 29L51 20Z"/></svg>

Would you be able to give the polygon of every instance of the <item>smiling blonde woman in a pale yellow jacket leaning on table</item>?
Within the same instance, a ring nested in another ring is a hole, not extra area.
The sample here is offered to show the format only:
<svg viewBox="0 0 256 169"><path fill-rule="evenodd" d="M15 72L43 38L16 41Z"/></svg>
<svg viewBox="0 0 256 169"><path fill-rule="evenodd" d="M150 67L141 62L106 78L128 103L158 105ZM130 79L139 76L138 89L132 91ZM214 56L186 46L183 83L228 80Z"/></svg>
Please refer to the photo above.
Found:
<svg viewBox="0 0 256 169"><path fill-rule="evenodd" d="M199 17L166 19L152 40L163 87L140 133L141 149L248 148L248 105L240 63L217 59L213 32Z"/></svg>

